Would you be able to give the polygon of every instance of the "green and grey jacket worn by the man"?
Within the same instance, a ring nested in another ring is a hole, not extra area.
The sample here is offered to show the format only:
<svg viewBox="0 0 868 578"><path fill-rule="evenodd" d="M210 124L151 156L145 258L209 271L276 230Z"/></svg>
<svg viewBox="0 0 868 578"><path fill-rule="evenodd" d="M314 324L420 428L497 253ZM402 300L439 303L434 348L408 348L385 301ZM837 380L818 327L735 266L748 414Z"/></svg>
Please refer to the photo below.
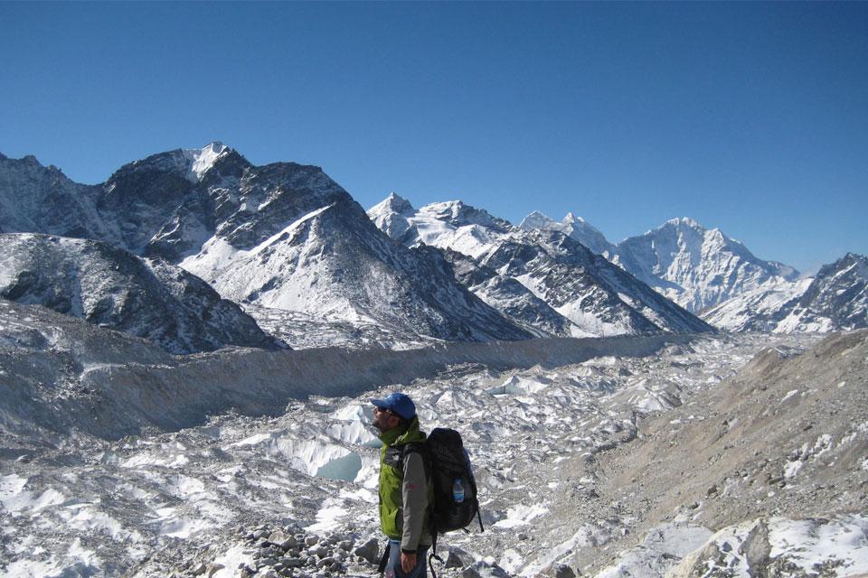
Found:
<svg viewBox="0 0 868 578"><path fill-rule="evenodd" d="M407 443L423 443L419 419L406 428L394 428L380 435L380 526L392 540L401 540L401 550L415 552L430 545L429 488L425 465L419 452L403 455Z"/></svg>

